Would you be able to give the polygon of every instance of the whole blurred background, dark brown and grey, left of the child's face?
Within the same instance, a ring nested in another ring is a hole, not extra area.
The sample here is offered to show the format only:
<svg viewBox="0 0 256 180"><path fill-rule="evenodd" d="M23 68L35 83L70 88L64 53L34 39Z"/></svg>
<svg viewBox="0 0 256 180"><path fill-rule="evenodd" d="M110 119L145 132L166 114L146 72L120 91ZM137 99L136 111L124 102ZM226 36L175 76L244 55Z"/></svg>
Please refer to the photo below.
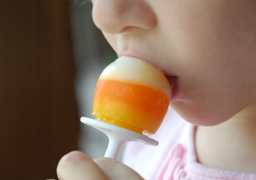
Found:
<svg viewBox="0 0 256 180"><path fill-rule="evenodd" d="M107 138L80 123L116 55L78 0L0 1L0 179L57 178L59 159L104 155Z"/></svg>

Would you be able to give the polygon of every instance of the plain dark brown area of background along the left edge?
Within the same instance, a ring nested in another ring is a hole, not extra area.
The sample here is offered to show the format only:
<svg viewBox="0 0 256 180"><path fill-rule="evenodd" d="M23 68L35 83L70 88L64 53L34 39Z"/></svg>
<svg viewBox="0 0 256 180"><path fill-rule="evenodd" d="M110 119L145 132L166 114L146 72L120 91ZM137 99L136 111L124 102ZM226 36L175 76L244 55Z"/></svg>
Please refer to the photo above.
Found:
<svg viewBox="0 0 256 180"><path fill-rule="evenodd" d="M63 0L0 1L0 179L56 178L77 149L75 68Z"/></svg>

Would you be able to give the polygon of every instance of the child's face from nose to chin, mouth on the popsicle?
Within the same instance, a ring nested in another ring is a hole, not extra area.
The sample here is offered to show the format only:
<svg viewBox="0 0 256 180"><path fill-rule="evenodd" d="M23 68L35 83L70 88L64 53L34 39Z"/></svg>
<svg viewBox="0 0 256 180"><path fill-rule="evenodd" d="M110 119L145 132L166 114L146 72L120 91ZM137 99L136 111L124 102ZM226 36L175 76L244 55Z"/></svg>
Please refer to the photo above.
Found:
<svg viewBox="0 0 256 180"><path fill-rule="evenodd" d="M177 76L170 105L186 120L223 122L256 101L255 0L93 0L119 56Z"/></svg>

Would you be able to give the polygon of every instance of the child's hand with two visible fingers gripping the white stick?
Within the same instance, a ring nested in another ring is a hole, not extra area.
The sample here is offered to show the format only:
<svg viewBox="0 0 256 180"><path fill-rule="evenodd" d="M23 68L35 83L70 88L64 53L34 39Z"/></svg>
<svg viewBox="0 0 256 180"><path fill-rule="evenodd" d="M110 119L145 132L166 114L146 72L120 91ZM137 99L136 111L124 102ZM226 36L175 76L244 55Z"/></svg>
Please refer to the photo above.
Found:
<svg viewBox="0 0 256 180"><path fill-rule="evenodd" d="M57 166L60 180L143 180L134 170L111 158L92 160L80 151L72 151Z"/></svg>

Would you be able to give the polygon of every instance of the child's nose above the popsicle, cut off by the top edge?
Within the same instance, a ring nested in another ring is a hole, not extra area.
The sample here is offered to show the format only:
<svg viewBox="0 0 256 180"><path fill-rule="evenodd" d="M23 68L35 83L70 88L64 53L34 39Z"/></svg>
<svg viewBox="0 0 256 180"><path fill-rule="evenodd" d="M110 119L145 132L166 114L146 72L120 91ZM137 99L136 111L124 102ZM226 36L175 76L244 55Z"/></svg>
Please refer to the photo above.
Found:
<svg viewBox="0 0 256 180"><path fill-rule="evenodd" d="M144 0L94 0L92 18L107 33L122 33L131 27L152 29L157 22Z"/></svg>

